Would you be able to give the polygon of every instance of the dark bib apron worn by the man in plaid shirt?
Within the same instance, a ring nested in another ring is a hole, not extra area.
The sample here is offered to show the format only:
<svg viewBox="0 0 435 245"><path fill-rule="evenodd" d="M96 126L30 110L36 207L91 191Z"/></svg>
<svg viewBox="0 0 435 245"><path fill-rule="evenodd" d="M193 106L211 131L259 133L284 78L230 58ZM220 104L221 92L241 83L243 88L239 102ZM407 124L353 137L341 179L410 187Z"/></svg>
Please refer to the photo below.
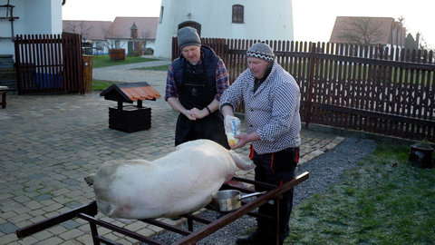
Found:
<svg viewBox="0 0 435 245"><path fill-rule="evenodd" d="M189 73L187 64L184 64L182 81L179 86L179 102L184 108L190 110L196 107L202 110L215 99L215 94L216 85L208 83L204 62L202 62L202 73ZM190 121L184 114L179 113L175 145L198 139L212 140L229 149L224 118L219 111L196 121Z"/></svg>

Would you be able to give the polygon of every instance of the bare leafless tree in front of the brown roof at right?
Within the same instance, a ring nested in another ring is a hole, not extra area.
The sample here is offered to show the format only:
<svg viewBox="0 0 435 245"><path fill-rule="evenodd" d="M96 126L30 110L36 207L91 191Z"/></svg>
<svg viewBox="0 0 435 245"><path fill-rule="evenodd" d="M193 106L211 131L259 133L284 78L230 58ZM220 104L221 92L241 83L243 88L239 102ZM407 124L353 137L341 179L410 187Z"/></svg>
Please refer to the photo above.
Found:
<svg viewBox="0 0 435 245"><path fill-rule="evenodd" d="M339 37L351 44L374 45L382 38L381 26L372 18L352 18L342 29Z"/></svg>

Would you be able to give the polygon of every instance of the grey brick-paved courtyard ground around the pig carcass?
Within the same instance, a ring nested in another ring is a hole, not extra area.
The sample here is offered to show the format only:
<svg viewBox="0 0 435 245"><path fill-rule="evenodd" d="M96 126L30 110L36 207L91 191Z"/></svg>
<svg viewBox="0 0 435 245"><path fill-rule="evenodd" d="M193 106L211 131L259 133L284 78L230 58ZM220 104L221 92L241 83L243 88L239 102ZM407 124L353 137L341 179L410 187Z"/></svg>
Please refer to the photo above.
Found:
<svg viewBox="0 0 435 245"><path fill-rule="evenodd" d="M161 92L160 92L161 93ZM86 95L15 95L0 109L0 244L92 244L88 223L69 220L17 240L14 231L94 200L83 177L112 159L154 160L173 151L178 113L163 99L145 102L151 128L119 132L108 128L109 107L97 93ZM307 162L343 141L332 134L302 131L301 162ZM237 150L247 153L247 148ZM239 171L250 177L252 172ZM111 220L144 235L159 228L139 221ZM122 244L137 241L99 229Z"/></svg>

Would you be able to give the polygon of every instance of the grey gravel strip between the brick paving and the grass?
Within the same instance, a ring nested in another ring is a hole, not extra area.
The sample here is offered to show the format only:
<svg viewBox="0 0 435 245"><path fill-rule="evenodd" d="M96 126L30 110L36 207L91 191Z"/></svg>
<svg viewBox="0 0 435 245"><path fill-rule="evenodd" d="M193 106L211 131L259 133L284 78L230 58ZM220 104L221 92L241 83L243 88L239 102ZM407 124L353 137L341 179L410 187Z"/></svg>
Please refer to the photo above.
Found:
<svg viewBox="0 0 435 245"><path fill-rule="evenodd" d="M304 163L297 174L309 171L310 178L295 187L294 207L315 193L327 191L331 184L340 181L340 175L343 171L355 167L356 162L373 152L375 147L376 142L372 140L347 138L332 151L325 152L320 157ZM206 211L203 215L208 219L215 219L217 212ZM198 229L197 222L194 223L197 225L194 229ZM186 225L183 226L187 229ZM238 236L242 235L245 230L255 226L256 220L254 218L244 216L207 238L200 240L197 244L235 244ZM179 240L181 236L173 232L163 232L154 238L170 244Z"/></svg>

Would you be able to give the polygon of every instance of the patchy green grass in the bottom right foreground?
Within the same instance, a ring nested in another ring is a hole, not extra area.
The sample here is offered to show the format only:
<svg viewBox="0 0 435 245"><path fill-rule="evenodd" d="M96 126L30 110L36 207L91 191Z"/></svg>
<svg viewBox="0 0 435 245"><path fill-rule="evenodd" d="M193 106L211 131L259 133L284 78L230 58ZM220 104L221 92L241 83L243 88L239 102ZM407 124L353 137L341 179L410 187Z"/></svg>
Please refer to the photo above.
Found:
<svg viewBox="0 0 435 245"><path fill-rule="evenodd" d="M380 143L329 191L292 213L285 244L435 244L435 169Z"/></svg>

